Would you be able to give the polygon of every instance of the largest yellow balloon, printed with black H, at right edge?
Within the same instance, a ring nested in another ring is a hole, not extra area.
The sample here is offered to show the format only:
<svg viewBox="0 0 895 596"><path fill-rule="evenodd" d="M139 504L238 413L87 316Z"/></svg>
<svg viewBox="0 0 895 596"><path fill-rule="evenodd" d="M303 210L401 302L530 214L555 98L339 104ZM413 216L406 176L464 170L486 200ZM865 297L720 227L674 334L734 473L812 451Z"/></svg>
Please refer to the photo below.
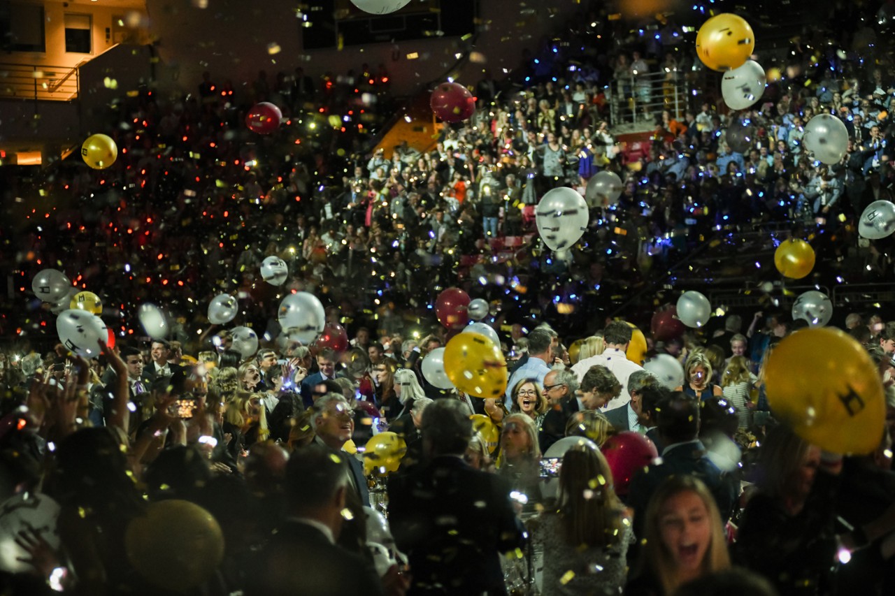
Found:
<svg viewBox="0 0 895 596"><path fill-rule="evenodd" d="M771 411L827 451L866 454L886 418L879 373L865 349L835 328L808 328L774 348L765 368Z"/></svg>

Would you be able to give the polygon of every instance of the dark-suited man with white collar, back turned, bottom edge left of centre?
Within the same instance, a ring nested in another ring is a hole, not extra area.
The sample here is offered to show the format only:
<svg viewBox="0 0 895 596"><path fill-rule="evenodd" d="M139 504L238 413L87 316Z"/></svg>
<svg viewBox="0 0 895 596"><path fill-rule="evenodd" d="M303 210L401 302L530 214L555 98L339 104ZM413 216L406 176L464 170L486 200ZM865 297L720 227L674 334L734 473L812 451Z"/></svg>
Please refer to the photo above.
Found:
<svg viewBox="0 0 895 596"><path fill-rule="evenodd" d="M384 594L371 566L336 544L351 489L332 451L315 445L297 451L286 465L285 489L290 515L251 566L246 594ZM397 576L396 567L389 574Z"/></svg>

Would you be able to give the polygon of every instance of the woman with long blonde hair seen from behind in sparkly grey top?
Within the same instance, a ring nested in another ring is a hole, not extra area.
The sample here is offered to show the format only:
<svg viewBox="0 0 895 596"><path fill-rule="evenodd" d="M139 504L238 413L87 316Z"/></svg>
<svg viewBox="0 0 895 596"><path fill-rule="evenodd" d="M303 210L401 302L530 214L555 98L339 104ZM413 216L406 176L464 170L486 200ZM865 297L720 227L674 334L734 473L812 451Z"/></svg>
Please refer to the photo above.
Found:
<svg viewBox="0 0 895 596"><path fill-rule="evenodd" d="M543 596L620 591L633 533L599 449L579 445L566 452L558 507L531 526L533 541L544 546Z"/></svg>

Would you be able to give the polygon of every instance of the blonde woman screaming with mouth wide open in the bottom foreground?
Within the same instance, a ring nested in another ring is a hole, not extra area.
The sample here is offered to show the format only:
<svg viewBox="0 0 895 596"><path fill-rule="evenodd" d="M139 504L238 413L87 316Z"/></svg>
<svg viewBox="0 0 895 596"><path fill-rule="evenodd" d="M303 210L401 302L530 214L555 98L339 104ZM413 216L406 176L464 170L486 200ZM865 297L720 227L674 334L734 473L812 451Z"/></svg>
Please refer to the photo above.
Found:
<svg viewBox="0 0 895 596"><path fill-rule="evenodd" d="M682 584L730 566L718 506L694 476L661 483L646 507L643 538L640 569L626 594L671 596Z"/></svg>

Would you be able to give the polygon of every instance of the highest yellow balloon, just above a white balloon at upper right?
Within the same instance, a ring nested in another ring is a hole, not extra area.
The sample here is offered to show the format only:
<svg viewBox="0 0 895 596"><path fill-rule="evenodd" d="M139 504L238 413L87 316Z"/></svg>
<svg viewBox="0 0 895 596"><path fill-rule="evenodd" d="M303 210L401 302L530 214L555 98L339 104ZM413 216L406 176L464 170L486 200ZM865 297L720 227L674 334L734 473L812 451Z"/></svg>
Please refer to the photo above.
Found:
<svg viewBox="0 0 895 596"><path fill-rule="evenodd" d="M696 55L713 71L730 71L746 64L754 49L752 27L736 14L717 14L696 33Z"/></svg>

